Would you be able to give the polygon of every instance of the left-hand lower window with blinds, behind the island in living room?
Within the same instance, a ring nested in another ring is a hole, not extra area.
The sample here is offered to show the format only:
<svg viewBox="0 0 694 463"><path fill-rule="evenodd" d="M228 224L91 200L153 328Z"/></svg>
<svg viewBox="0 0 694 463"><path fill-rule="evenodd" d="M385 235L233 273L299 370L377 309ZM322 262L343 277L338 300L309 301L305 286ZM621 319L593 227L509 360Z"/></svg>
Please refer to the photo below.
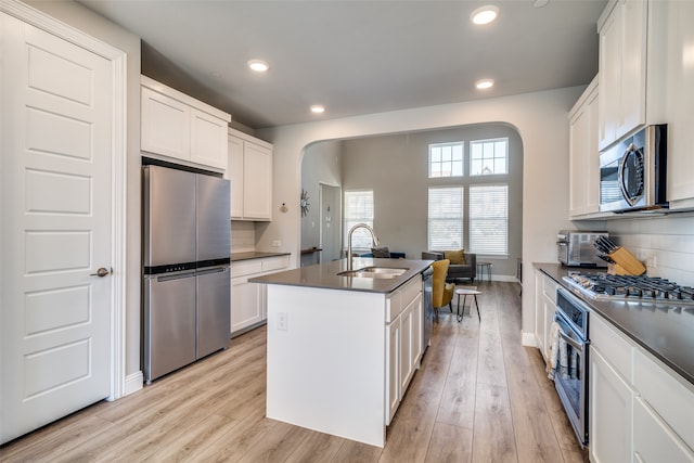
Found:
<svg viewBox="0 0 694 463"><path fill-rule="evenodd" d="M463 188L429 188L428 249L463 247Z"/></svg>

